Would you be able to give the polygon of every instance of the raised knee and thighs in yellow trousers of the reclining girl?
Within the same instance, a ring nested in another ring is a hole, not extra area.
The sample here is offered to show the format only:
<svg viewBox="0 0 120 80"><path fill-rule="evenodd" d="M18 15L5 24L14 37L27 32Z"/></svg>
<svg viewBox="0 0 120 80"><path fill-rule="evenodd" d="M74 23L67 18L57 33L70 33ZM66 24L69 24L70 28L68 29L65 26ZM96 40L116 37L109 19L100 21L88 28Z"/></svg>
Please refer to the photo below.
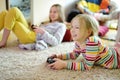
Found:
<svg viewBox="0 0 120 80"><path fill-rule="evenodd" d="M15 16L14 16L15 15ZM10 22L7 20L8 17L11 17ZM14 21L16 19L16 21ZM18 8L12 8L8 15L6 15L5 27L9 30L13 30L20 43L33 43L36 39L35 32L29 29L28 23L24 18L22 12ZM11 25L9 26L8 23ZM12 25L13 24L13 25Z"/></svg>

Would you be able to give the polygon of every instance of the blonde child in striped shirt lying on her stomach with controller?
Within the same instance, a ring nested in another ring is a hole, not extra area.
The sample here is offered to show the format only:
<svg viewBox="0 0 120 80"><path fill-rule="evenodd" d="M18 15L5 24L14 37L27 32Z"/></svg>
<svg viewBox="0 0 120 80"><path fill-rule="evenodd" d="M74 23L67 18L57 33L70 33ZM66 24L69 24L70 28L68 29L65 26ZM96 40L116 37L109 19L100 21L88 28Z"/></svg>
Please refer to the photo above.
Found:
<svg viewBox="0 0 120 80"><path fill-rule="evenodd" d="M52 55L55 62L48 67L56 70L90 70L94 65L105 68L120 68L120 50L117 47L104 46L97 37L98 22L87 14L77 15L71 22L71 35L75 41L75 50L70 53ZM82 58L82 59L81 59ZM77 59L76 61L64 61Z"/></svg>

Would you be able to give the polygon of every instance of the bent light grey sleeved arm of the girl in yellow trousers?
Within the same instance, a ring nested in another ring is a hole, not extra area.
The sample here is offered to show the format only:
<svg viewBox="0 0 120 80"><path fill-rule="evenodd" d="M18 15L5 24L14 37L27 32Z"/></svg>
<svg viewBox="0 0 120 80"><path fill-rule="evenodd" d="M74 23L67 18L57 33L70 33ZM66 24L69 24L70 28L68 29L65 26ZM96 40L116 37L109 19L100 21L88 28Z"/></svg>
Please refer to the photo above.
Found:
<svg viewBox="0 0 120 80"><path fill-rule="evenodd" d="M64 37L64 34L66 32L66 25L62 23L55 24L54 27L59 27L56 31L54 29L49 27L49 32L46 30L43 35L40 36L40 39L44 40L47 44L51 46L56 46L62 42L62 39ZM48 25L53 26L53 25ZM54 34L50 33L54 31Z"/></svg>

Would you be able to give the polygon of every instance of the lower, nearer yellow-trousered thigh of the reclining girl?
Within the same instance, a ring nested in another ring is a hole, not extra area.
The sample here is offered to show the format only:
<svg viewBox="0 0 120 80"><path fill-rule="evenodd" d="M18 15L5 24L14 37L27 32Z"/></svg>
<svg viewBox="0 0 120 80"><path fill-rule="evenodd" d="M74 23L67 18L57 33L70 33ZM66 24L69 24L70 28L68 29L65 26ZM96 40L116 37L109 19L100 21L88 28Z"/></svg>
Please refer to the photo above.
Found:
<svg viewBox="0 0 120 80"><path fill-rule="evenodd" d="M22 23L16 22L13 28L14 34L22 44L33 43L36 40L36 33L26 28Z"/></svg>

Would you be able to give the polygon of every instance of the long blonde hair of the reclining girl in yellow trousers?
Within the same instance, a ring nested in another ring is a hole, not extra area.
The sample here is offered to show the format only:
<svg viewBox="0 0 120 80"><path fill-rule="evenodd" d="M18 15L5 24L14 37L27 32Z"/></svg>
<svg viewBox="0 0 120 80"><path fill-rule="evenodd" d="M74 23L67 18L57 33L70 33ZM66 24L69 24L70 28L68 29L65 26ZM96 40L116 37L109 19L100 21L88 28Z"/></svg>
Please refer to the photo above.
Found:
<svg viewBox="0 0 120 80"><path fill-rule="evenodd" d="M56 7L57 10L58 10L58 14L59 14L58 21L59 21L59 22L64 22L64 21L65 21L65 14L64 14L64 12L63 12L63 10L62 10L62 6L61 6L60 4L53 4L53 5L51 6L51 8L52 8L52 7ZM49 19L50 19L50 17L49 17ZM50 19L50 22L51 22L51 19Z"/></svg>

